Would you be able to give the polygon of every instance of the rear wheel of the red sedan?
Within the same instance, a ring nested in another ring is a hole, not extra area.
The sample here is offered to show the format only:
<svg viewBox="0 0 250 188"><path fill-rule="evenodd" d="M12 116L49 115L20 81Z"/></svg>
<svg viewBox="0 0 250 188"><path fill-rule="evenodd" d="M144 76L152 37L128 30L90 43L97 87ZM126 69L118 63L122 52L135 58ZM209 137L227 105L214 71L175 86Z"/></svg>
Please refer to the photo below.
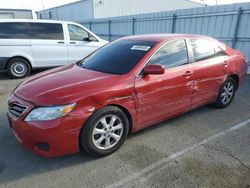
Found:
<svg viewBox="0 0 250 188"><path fill-rule="evenodd" d="M214 105L218 108L226 108L233 101L237 83L234 78L228 77L219 90L218 97Z"/></svg>

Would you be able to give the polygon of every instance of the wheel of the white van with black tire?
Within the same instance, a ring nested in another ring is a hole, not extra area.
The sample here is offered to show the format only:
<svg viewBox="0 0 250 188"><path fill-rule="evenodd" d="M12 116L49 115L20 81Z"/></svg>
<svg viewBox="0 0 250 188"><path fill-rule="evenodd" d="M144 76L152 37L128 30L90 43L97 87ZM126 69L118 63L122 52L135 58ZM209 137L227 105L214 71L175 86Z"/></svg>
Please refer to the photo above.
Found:
<svg viewBox="0 0 250 188"><path fill-rule="evenodd" d="M26 59L17 57L9 61L7 71L12 78L25 78L30 74L31 67Z"/></svg>

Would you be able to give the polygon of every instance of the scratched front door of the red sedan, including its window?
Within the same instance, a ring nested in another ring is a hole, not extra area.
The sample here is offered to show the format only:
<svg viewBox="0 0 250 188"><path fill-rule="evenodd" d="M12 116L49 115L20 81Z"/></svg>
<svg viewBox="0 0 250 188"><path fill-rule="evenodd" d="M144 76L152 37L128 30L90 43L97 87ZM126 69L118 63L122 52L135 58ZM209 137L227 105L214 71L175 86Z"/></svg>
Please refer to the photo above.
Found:
<svg viewBox="0 0 250 188"><path fill-rule="evenodd" d="M188 62L184 39L168 42L152 56L149 64L161 64L166 69L162 75L140 75L135 79L140 125L147 126L191 108L193 68Z"/></svg>

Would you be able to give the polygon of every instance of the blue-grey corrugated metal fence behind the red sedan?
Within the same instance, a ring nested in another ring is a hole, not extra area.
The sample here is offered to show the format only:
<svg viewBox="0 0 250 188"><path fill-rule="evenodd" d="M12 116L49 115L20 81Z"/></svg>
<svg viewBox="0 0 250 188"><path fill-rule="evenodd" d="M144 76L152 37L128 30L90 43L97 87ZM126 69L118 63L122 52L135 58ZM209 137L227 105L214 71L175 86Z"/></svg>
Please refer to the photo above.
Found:
<svg viewBox="0 0 250 188"><path fill-rule="evenodd" d="M79 21L97 35L116 38L150 33L189 33L215 37L250 59L250 3Z"/></svg>

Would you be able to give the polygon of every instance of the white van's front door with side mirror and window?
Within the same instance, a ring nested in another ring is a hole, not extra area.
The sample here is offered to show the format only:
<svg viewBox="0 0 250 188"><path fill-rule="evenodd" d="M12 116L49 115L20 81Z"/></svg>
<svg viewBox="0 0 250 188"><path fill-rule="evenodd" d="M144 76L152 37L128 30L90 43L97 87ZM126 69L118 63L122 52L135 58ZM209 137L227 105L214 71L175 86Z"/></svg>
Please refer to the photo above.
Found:
<svg viewBox="0 0 250 188"><path fill-rule="evenodd" d="M91 52L104 45L84 28L78 25L68 24L68 34L68 53L70 63L74 63L86 57Z"/></svg>

